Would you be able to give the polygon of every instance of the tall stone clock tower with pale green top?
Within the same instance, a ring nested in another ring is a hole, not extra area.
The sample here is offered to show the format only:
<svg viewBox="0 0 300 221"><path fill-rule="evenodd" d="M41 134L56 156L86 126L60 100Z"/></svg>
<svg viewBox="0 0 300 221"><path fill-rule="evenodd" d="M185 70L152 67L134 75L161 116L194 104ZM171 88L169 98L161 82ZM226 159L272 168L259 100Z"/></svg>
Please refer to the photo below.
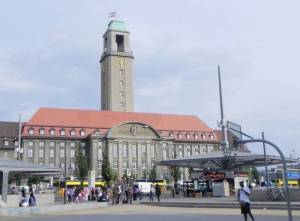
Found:
<svg viewBox="0 0 300 221"><path fill-rule="evenodd" d="M133 59L124 22L110 21L100 59L102 110L133 111Z"/></svg>

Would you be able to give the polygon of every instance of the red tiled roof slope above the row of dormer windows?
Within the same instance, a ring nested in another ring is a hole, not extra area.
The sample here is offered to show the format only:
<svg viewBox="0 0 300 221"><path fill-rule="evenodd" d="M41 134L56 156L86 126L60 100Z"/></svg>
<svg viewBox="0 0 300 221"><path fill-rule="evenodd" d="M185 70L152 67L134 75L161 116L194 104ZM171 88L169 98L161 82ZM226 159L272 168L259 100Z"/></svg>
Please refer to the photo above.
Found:
<svg viewBox="0 0 300 221"><path fill-rule="evenodd" d="M192 115L60 108L40 108L26 123L26 125L107 129L112 128L117 124L129 121L145 123L160 131L213 132L213 130L197 116Z"/></svg>

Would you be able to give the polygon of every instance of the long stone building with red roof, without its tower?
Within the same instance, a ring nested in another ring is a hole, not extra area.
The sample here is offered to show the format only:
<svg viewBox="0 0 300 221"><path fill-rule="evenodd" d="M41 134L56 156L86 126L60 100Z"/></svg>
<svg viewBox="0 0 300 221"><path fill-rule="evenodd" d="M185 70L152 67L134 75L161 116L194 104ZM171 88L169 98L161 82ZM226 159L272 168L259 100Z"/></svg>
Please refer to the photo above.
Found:
<svg viewBox="0 0 300 221"><path fill-rule="evenodd" d="M23 127L22 140L23 160L66 166L66 176L74 176L78 146L97 177L103 152L118 176L143 178L157 161L219 150L215 132L196 116L133 112L41 108ZM170 178L166 167L157 172ZM187 177L182 170L182 179Z"/></svg>

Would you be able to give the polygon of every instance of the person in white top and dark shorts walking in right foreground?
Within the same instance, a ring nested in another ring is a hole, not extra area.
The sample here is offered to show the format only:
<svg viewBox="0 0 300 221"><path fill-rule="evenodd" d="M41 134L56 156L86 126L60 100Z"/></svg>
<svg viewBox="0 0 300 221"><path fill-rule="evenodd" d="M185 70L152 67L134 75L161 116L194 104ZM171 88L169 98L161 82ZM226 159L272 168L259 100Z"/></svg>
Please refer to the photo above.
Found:
<svg viewBox="0 0 300 221"><path fill-rule="evenodd" d="M247 221L247 214L249 214L252 221L254 221L250 208L250 190L248 186L244 185L244 181L240 182L240 187L241 188L238 190L238 201L241 205L241 213L244 214L245 221Z"/></svg>

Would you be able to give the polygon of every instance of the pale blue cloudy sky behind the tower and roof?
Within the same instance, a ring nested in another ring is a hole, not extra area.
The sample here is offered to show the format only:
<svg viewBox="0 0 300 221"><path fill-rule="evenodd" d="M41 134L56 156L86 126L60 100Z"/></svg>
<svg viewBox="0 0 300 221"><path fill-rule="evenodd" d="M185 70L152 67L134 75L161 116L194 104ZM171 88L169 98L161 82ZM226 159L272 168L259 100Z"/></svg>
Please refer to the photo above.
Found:
<svg viewBox="0 0 300 221"><path fill-rule="evenodd" d="M197 115L217 128L219 64L226 120L299 157L299 8L297 0L1 0L0 120L26 121L39 107L100 109L102 35L116 10L135 56L135 111Z"/></svg>

